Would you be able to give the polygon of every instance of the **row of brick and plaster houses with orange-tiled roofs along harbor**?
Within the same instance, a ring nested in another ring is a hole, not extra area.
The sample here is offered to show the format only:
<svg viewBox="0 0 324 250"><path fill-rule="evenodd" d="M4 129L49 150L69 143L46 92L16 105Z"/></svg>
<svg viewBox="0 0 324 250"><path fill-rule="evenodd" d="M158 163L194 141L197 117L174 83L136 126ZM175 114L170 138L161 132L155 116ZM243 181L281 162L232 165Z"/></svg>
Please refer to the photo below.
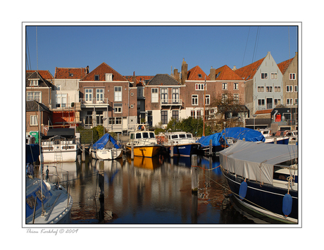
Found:
<svg viewBox="0 0 324 250"><path fill-rule="evenodd" d="M268 52L242 68L223 65L208 75L199 65L188 70L185 59L180 72L175 68L170 75L125 76L106 63L92 71L56 68L54 77L48 70L27 70L25 90L26 132L102 125L123 133L144 122L163 127L170 118L201 118L213 99L228 95L244 106L244 112L230 115L272 119L275 108L284 108L286 119L296 124L298 55L277 64Z"/></svg>

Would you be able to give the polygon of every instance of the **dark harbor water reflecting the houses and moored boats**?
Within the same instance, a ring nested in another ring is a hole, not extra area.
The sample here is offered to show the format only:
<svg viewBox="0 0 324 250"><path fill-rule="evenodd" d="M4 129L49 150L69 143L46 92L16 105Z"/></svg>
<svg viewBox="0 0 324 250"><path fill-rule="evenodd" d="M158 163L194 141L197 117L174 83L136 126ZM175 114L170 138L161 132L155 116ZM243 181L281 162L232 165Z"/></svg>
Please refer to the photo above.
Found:
<svg viewBox="0 0 324 250"><path fill-rule="evenodd" d="M197 156L198 190L192 192L191 161L190 157L161 156L131 160L124 155L114 161L98 161L87 156L85 162L78 158L75 163L58 163L61 185L73 197L71 223L263 223L230 202L230 190L216 156Z"/></svg>

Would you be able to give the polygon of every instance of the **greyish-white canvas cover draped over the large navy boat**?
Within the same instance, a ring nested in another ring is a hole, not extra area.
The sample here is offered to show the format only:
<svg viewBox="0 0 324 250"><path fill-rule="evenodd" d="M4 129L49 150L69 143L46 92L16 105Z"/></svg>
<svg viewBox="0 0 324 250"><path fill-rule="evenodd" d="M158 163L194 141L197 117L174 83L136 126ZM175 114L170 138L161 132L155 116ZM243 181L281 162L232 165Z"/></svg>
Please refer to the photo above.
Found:
<svg viewBox="0 0 324 250"><path fill-rule="evenodd" d="M273 165L298 157L298 146L237 141L220 151L225 170L249 180L273 184ZM295 162L293 161L292 164Z"/></svg>

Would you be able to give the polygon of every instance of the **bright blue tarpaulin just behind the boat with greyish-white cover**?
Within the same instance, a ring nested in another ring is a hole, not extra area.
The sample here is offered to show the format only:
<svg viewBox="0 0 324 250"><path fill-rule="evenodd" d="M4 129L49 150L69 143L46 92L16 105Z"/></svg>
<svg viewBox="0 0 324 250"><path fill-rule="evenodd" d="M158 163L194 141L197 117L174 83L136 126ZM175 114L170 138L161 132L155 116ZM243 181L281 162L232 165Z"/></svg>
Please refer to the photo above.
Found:
<svg viewBox="0 0 324 250"><path fill-rule="evenodd" d="M228 127L222 132L226 134L225 137L232 137L234 139L245 139L247 142L264 142L266 138L263 137L261 132L251 130L247 127ZM225 138L224 138L225 139Z"/></svg>

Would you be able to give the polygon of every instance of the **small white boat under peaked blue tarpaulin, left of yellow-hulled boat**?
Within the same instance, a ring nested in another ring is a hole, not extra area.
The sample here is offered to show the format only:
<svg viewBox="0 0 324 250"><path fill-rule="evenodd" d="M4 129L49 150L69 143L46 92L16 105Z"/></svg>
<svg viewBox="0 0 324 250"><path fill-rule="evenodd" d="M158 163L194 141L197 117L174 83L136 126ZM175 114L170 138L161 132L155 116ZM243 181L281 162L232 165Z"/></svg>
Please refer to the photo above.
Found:
<svg viewBox="0 0 324 250"><path fill-rule="evenodd" d="M106 133L90 148L92 158L98 160L114 160L123 156L122 145Z"/></svg>

